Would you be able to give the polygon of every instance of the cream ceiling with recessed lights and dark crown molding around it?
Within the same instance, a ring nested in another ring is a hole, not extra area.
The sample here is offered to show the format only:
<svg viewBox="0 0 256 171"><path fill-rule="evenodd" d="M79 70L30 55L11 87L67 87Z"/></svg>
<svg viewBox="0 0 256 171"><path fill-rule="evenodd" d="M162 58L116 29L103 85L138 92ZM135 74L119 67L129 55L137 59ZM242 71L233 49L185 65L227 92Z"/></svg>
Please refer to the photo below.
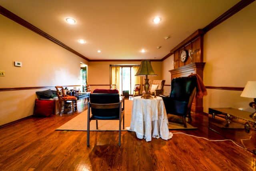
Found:
<svg viewBox="0 0 256 171"><path fill-rule="evenodd" d="M238 2L0 0L0 5L89 60L161 60ZM159 24L152 22L155 16L162 18ZM66 17L74 18L76 24L68 24ZM165 36L170 38L165 40ZM86 44L78 43L78 39L86 40ZM146 52L141 53L141 49Z"/></svg>

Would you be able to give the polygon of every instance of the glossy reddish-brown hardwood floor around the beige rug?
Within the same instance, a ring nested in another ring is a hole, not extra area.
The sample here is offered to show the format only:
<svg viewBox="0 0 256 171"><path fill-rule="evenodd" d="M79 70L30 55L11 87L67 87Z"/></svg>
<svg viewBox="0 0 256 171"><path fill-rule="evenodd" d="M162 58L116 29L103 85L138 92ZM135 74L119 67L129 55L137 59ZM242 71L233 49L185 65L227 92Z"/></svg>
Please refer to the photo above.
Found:
<svg viewBox="0 0 256 171"><path fill-rule="evenodd" d="M250 171L256 155L230 141L212 142L184 134L165 141L146 142L134 132L92 131L90 147L85 131L55 131L78 112L48 118L28 118L0 129L1 171ZM208 116L192 115L196 130L172 130L208 139L223 139L208 129Z"/></svg>

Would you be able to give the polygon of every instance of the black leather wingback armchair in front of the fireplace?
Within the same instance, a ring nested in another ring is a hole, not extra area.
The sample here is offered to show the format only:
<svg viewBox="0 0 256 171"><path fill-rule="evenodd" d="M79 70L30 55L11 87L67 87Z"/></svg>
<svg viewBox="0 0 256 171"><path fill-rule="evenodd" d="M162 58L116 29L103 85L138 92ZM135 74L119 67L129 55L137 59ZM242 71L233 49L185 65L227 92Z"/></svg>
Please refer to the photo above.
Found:
<svg viewBox="0 0 256 171"><path fill-rule="evenodd" d="M187 127L186 117L192 120L190 112L196 94L196 85L196 76L174 78L170 96L162 96L166 112L181 116L184 127Z"/></svg>

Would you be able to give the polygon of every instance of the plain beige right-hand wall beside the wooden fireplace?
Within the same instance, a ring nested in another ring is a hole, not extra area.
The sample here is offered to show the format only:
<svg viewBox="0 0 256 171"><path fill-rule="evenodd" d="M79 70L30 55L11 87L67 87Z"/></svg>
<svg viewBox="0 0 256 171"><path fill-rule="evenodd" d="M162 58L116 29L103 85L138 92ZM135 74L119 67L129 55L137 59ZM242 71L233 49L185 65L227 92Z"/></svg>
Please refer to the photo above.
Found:
<svg viewBox="0 0 256 171"><path fill-rule="evenodd" d="M204 84L244 87L256 80L256 2L222 22L204 36ZM253 99L240 97L242 91L208 89L204 111L208 107L234 107L254 111Z"/></svg>

